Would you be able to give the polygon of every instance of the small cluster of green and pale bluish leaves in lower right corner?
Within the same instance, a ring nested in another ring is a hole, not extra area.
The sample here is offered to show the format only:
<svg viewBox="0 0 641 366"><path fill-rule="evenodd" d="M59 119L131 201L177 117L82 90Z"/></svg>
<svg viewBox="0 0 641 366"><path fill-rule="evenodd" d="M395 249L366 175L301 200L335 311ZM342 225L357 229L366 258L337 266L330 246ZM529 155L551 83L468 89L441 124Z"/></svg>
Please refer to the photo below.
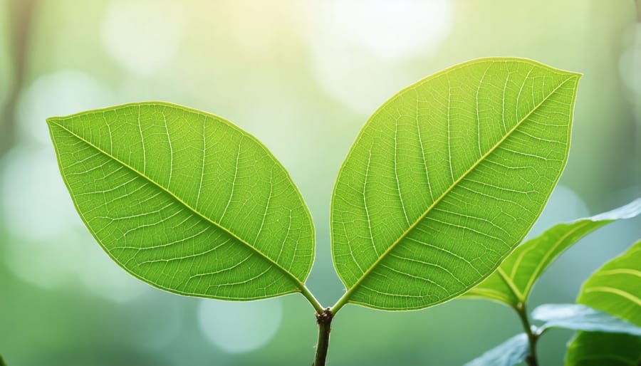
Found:
<svg viewBox="0 0 641 366"><path fill-rule="evenodd" d="M531 318L544 322L543 325L530 325L526 303L538 277L563 251L600 227L639 214L641 199L636 199L603 214L557 224L541 236L518 246L496 272L465 296L508 305L521 318L524 333L506 340L467 365L511 366L528 360L528 355L535 355L528 362L536 365L536 342L551 328L582 331L568 347L568 366L583 365L579 360L583 362L588 357L611 357L627 352L628 347L634 348L634 344L641 341L641 242L588 278L576 304L546 304L534 309ZM595 337L602 338L604 345L611 339L620 338L621 341L617 345L610 342L610 349L606 351L603 347L595 346L592 342ZM590 347L578 346L588 343ZM617 348L620 352L616 351ZM641 352L638 352L638 357L641 361Z"/></svg>

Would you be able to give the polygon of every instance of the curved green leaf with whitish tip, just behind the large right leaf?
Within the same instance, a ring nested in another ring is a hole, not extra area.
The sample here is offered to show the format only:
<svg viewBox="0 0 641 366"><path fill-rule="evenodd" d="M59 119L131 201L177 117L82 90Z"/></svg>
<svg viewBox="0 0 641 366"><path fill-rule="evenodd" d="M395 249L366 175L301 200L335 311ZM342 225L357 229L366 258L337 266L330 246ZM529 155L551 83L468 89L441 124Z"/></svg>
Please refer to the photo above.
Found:
<svg viewBox="0 0 641 366"><path fill-rule="evenodd" d="M499 269L467 297L487 298L518 308L526 302L541 273L583 236L619 219L630 219L641 213L641 199L596 216L557 224L534 239L518 246Z"/></svg>

